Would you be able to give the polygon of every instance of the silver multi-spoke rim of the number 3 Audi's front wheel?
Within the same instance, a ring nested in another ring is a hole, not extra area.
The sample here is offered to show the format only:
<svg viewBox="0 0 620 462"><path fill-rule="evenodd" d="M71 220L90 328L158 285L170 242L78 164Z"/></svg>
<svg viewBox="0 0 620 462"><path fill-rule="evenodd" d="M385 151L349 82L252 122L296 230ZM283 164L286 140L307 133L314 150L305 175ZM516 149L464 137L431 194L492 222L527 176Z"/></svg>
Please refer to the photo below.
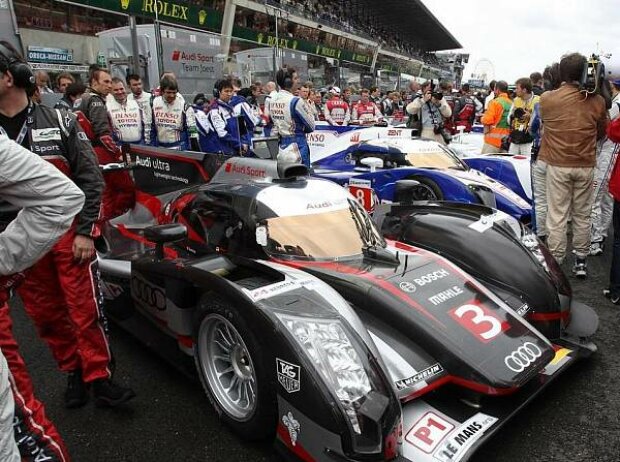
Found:
<svg viewBox="0 0 620 462"><path fill-rule="evenodd" d="M211 391L232 418L245 421L256 409L256 372L241 335L220 315L207 316L198 334L198 360Z"/></svg>

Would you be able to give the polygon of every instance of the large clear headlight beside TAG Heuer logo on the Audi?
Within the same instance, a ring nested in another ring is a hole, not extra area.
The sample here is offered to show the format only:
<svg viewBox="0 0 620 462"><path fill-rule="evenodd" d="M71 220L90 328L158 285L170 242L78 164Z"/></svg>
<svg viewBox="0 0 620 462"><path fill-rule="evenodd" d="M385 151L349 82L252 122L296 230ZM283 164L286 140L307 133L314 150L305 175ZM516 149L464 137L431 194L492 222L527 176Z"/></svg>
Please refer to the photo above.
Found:
<svg viewBox="0 0 620 462"><path fill-rule="evenodd" d="M353 450L380 452L381 418L390 400L376 365L360 354L361 347L338 319L276 315L338 399L352 430Z"/></svg>

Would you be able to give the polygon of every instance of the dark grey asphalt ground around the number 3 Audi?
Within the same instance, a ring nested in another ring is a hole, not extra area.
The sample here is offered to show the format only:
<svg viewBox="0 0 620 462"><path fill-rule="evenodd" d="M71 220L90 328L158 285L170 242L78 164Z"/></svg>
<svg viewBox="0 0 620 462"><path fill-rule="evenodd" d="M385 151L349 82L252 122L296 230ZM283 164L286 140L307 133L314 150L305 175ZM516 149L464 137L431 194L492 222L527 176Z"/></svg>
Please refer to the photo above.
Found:
<svg viewBox="0 0 620 462"><path fill-rule="evenodd" d="M571 278L576 299L594 307L599 351L569 369L507 423L470 460L474 462L617 462L620 460L620 307L601 295L610 249L589 259L590 278ZM565 268L566 269L566 268ZM111 326L115 379L138 397L114 410L62 406L65 377L56 370L19 300L14 332L49 416L74 461L275 462L269 443L251 444L219 423L202 388L179 374L128 333Z"/></svg>

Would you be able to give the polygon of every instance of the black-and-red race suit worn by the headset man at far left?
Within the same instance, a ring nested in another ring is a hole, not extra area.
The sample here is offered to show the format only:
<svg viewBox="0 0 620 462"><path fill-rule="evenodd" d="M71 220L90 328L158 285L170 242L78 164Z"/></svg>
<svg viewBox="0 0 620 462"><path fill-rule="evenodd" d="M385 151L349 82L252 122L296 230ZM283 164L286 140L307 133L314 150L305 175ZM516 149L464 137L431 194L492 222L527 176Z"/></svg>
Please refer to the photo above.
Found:
<svg viewBox="0 0 620 462"><path fill-rule="evenodd" d="M25 281L18 290L24 309L61 370L81 368L86 382L108 378L110 353L98 306L96 258L79 263L74 260L72 249L76 235L94 238L97 234L95 223L99 217L103 178L91 145L73 115L37 104L30 104L10 120L3 120L1 125L9 137L69 176L86 197L69 231L25 273ZM31 413L30 418L40 420L45 428L43 407L34 398L30 377L11 335L8 307L3 307L0 313L0 348L13 371L15 386Z"/></svg>

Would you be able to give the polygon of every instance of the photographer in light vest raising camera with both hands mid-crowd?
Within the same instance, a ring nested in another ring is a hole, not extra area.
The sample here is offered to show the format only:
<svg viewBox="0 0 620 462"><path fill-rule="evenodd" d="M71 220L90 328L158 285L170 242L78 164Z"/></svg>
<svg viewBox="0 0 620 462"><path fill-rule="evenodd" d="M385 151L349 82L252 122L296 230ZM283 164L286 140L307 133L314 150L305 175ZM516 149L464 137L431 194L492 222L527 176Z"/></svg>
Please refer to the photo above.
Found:
<svg viewBox="0 0 620 462"><path fill-rule="evenodd" d="M416 98L407 105L407 113L422 121L422 138L430 138L444 145L450 142L443 119L452 117L452 109L441 92L427 89L422 98Z"/></svg>

